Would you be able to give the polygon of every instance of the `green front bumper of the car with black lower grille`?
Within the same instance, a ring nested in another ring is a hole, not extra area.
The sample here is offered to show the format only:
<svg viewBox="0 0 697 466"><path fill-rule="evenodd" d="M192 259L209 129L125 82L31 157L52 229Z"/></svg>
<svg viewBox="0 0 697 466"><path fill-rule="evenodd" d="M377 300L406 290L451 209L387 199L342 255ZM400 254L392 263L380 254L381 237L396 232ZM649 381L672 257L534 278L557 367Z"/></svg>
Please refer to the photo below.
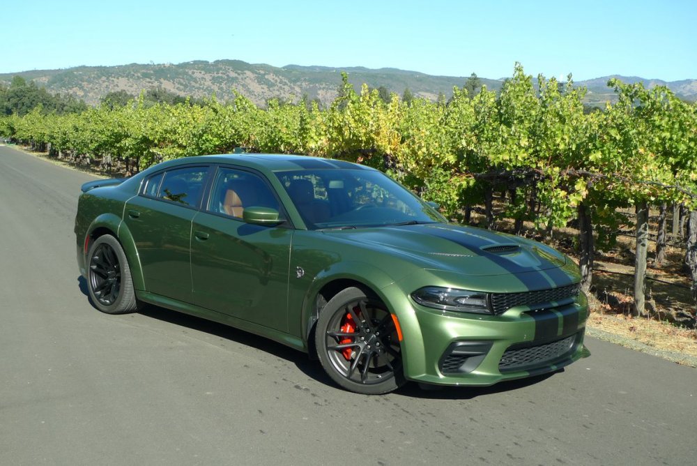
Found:
<svg viewBox="0 0 697 466"><path fill-rule="evenodd" d="M554 372L586 356L588 301L511 308L501 315L452 313L401 299L404 375L426 384L488 386Z"/></svg>

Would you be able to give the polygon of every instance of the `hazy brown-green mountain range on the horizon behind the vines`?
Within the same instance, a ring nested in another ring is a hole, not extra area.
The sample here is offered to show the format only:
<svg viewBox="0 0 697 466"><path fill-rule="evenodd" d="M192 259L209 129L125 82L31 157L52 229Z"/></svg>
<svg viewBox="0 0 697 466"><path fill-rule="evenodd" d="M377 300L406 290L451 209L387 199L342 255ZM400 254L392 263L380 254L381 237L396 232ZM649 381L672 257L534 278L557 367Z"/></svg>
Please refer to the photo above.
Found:
<svg viewBox="0 0 697 466"><path fill-rule="evenodd" d="M348 73L349 81L357 89L366 83L369 87L385 87L401 95L409 89L414 96L436 100L440 93L446 98L452 88L462 87L468 77L434 76L417 71L397 68L332 68L327 66L288 65L282 68L263 63L246 63L240 60L187 61L171 64L138 64L122 66L77 66L59 70L31 70L20 73L0 74L0 83L9 84L14 76L33 80L52 93L68 93L90 105L112 91L126 91L137 95L141 90L162 88L182 96L210 97L218 100L233 97L233 89L254 103L263 105L269 98L299 99L304 95L316 98L324 105L336 96L341 84L341 72ZM643 82L646 87L667 86L685 100L697 100L697 80L665 82L643 77L620 75L597 77L575 84L588 89L585 101L589 105L602 105L613 100L614 93L607 87L611 77L619 77L628 83ZM503 79L480 77L481 84L498 91Z"/></svg>

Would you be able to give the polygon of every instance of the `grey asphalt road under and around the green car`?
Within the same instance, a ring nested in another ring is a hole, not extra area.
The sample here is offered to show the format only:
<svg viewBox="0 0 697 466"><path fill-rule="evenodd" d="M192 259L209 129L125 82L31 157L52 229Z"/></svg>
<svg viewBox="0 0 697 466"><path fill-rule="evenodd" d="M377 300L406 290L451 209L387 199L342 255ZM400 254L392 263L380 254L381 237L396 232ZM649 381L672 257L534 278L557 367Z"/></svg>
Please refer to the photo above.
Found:
<svg viewBox="0 0 697 466"><path fill-rule="evenodd" d="M588 339L561 373L359 396L242 331L93 308L91 176L0 146L1 465L694 465L697 370Z"/></svg>

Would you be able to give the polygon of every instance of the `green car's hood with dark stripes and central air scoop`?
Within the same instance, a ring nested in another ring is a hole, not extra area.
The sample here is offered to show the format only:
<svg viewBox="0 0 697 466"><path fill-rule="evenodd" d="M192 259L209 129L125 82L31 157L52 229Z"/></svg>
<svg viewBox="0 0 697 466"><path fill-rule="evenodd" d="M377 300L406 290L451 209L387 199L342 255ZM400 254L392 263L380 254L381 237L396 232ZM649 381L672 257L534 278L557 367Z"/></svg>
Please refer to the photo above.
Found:
<svg viewBox="0 0 697 466"><path fill-rule="evenodd" d="M325 230L345 241L407 257L424 269L497 276L556 269L566 256L542 243L474 227L431 223Z"/></svg>

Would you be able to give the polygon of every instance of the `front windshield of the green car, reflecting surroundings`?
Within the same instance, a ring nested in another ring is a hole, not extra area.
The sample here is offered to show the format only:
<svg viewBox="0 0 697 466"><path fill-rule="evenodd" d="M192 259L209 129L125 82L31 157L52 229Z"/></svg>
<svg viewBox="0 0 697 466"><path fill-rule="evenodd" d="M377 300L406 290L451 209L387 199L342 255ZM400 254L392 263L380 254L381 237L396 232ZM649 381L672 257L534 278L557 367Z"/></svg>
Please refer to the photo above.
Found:
<svg viewBox="0 0 697 466"><path fill-rule="evenodd" d="M310 230L445 222L388 176L373 170L277 172Z"/></svg>

